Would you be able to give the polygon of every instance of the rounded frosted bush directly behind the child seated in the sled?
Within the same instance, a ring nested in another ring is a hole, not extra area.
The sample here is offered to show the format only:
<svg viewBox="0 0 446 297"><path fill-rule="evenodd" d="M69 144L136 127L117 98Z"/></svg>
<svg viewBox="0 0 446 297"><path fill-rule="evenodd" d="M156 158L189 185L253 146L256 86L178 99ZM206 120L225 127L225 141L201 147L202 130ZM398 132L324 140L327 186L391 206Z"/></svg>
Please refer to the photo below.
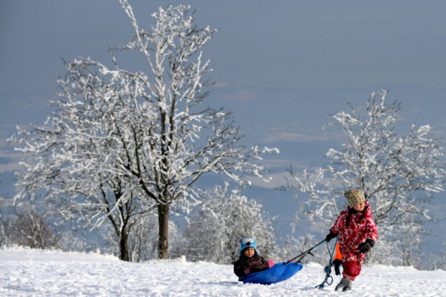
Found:
<svg viewBox="0 0 446 297"><path fill-rule="evenodd" d="M202 204L183 235L187 259L235 263L239 240L244 237L255 239L262 257L275 256L274 228L261 204L242 195L239 189L229 191L228 183L200 191L200 195Z"/></svg>

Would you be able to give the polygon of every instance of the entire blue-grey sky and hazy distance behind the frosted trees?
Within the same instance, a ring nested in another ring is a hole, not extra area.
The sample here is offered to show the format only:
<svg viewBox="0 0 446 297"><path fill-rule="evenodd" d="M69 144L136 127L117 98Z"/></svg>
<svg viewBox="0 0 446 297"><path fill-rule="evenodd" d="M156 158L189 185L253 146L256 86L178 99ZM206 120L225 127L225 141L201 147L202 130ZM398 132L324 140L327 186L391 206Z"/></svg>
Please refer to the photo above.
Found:
<svg viewBox="0 0 446 297"><path fill-rule="evenodd" d="M339 131L322 130L329 114L347 102L363 108L377 88L401 102L402 133L428 123L445 136L446 1L130 0L141 27L168 3L191 5L198 26L220 30L203 48L214 69L209 104L233 111L246 143L279 147L266 161L274 176L290 164L318 165L341 141ZM14 127L41 125L49 114L60 58L108 62L108 47L131 36L117 0L0 0L0 179L18 161L5 147ZM286 234L297 202L271 189L280 183L248 194L279 215ZM437 198L443 216L445 198Z"/></svg>

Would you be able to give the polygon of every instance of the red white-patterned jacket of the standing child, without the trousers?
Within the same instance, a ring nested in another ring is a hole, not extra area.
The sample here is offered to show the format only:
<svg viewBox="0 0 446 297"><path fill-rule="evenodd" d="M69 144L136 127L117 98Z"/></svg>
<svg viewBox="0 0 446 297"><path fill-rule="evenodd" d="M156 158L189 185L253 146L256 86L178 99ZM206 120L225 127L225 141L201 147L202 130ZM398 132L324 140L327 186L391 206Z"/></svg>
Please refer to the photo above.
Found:
<svg viewBox="0 0 446 297"><path fill-rule="evenodd" d="M378 238L378 228L372 217L372 209L368 202L361 212L355 212L353 209L342 211L336 219L330 232L339 234L339 248L342 254L356 254L357 246L372 239L373 242ZM346 226L347 217L349 225Z"/></svg>

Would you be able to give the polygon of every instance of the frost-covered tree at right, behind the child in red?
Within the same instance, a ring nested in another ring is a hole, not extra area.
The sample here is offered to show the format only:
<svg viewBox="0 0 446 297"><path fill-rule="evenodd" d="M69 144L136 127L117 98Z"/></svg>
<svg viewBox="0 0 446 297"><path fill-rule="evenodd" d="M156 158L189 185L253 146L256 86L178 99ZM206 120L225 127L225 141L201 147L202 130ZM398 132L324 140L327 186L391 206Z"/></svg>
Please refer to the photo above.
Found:
<svg viewBox="0 0 446 297"><path fill-rule="evenodd" d="M307 193L298 217L320 219L329 227L347 204L344 191L360 188L373 206L379 241L399 241L408 264L410 254L418 253L411 243L419 242L416 236L426 234L425 223L434 219L429 214L432 195L445 185L443 141L428 125L412 125L406 136L399 136L395 123L401 104L389 104L386 95L384 90L373 92L364 117L353 106L351 112L332 115L330 125L340 128L347 140L342 149L327 152L327 167L302 174L290 168L284 189Z"/></svg>

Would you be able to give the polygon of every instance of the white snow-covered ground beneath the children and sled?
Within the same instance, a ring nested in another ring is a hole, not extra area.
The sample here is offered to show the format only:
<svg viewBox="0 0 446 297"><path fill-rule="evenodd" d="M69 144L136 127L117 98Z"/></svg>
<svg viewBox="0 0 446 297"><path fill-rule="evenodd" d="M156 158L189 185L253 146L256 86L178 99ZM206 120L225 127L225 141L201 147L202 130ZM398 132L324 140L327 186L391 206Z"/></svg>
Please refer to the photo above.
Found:
<svg viewBox="0 0 446 297"><path fill-rule="evenodd" d="M116 257L10 248L0 250L0 296L446 296L446 272L365 266L351 292L316 289L322 266L304 265L274 285L237 282L231 265L185 259L126 263Z"/></svg>

